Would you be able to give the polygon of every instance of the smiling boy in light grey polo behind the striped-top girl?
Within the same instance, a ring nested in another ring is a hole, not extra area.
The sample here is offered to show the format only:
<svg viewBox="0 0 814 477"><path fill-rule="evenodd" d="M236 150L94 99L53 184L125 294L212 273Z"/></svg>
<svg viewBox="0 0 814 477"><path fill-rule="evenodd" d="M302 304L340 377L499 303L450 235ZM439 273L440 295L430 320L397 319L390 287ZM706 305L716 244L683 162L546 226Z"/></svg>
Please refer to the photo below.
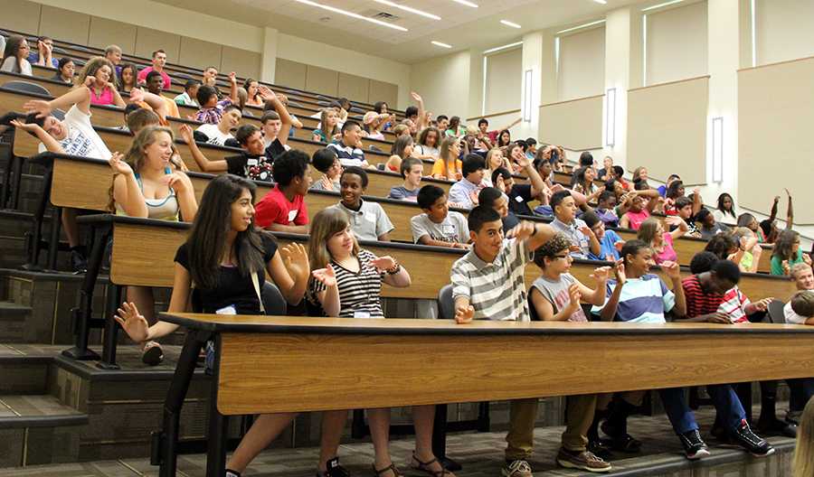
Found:
<svg viewBox="0 0 814 477"><path fill-rule="evenodd" d="M347 214L356 239L389 242L393 222L384 213L381 205L362 200L367 183L367 173L364 169L355 166L346 167L339 177L339 196L342 200L331 207Z"/></svg>

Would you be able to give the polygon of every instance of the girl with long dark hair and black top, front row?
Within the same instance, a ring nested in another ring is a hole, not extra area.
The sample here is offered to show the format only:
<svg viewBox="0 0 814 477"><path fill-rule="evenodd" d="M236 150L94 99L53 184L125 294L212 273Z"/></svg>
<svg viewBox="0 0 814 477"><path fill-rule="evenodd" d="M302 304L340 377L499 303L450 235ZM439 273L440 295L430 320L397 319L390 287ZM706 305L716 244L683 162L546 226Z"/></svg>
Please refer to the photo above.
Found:
<svg viewBox="0 0 814 477"><path fill-rule="evenodd" d="M266 273L287 303L302 301L310 275L306 249L299 244L278 248L270 235L255 229L255 189L253 182L229 174L209 182L189 237L175 253L170 313L183 313L191 303L196 313L264 314L260 290ZM139 343L178 329L177 324L166 322L149 325L134 303L122 304L115 318L130 339ZM295 416L259 416L226 464L230 469L227 475L240 475ZM330 422L328 419L326 424ZM341 426L337 430L323 428L324 434L341 432Z"/></svg>

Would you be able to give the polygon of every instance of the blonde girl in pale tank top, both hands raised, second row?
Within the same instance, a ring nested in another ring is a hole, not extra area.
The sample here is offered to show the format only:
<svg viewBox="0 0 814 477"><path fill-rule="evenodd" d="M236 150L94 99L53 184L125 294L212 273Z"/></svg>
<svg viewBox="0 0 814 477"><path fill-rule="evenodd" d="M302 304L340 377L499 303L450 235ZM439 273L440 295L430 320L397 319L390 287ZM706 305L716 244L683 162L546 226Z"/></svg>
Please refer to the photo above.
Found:
<svg viewBox="0 0 814 477"><path fill-rule="evenodd" d="M198 210L192 182L185 173L173 172L169 158L173 154L173 132L161 126L147 126L133 140L128 154L113 154L112 196L118 215L157 220L194 220ZM148 323L156 323L153 289L127 287L128 302L144 311ZM155 341L142 343L141 360L156 366L164 359Z"/></svg>

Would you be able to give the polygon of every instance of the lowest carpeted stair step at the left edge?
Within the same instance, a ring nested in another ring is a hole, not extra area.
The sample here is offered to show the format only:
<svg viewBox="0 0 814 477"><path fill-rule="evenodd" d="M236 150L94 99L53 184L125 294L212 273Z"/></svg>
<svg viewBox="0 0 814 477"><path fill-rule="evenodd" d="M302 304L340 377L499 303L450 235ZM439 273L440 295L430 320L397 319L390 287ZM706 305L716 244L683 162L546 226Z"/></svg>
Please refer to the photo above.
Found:
<svg viewBox="0 0 814 477"><path fill-rule="evenodd" d="M0 427L82 426L88 424L88 415L60 403L48 395L0 396Z"/></svg>

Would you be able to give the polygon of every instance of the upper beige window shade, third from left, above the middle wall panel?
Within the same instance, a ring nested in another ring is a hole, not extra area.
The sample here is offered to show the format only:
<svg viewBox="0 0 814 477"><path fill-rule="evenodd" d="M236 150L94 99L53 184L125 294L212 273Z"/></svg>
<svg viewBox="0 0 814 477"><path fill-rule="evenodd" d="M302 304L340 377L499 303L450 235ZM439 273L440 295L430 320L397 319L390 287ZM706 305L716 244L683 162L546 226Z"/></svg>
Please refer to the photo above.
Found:
<svg viewBox="0 0 814 477"><path fill-rule="evenodd" d="M707 73L706 9L698 2L648 14L648 85Z"/></svg>

